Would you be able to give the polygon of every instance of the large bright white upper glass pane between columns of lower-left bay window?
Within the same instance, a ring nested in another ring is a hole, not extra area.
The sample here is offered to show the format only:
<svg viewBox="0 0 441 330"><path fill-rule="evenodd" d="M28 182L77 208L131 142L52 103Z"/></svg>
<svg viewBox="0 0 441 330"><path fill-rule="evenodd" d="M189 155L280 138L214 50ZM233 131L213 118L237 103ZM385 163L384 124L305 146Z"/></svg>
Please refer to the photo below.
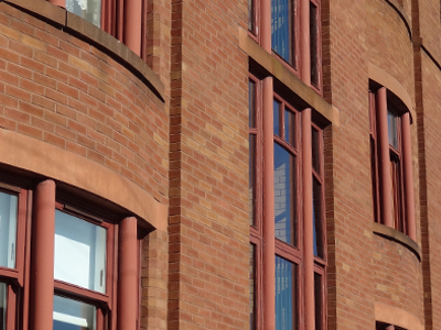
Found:
<svg viewBox="0 0 441 330"><path fill-rule="evenodd" d="M106 229L55 211L55 279L106 292Z"/></svg>

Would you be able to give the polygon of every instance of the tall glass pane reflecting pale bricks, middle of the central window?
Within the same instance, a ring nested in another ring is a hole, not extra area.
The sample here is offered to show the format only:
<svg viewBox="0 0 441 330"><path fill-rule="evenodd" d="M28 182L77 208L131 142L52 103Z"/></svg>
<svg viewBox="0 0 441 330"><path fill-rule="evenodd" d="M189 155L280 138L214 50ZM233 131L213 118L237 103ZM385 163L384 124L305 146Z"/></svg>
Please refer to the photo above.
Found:
<svg viewBox="0 0 441 330"><path fill-rule="evenodd" d="M295 157L275 143L275 235L297 245Z"/></svg>

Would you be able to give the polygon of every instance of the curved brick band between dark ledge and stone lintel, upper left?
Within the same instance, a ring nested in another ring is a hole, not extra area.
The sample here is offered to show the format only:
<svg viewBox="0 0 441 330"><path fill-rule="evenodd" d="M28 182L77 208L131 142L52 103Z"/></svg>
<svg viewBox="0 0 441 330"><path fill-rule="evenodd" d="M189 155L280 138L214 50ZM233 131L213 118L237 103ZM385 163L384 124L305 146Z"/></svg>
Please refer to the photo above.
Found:
<svg viewBox="0 0 441 330"><path fill-rule="evenodd" d="M2 3L0 127L103 164L166 202L168 117L129 70Z"/></svg>

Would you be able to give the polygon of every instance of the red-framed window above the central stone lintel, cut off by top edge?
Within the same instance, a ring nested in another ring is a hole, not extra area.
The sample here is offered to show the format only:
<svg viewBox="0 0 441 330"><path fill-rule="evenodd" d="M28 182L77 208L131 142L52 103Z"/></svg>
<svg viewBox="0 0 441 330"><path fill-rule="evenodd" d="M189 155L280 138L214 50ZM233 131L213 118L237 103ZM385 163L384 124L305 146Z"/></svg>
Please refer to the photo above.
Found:
<svg viewBox="0 0 441 330"><path fill-rule="evenodd" d="M248 31L266 51L321 94L320 0L248 0Z"/></svg>

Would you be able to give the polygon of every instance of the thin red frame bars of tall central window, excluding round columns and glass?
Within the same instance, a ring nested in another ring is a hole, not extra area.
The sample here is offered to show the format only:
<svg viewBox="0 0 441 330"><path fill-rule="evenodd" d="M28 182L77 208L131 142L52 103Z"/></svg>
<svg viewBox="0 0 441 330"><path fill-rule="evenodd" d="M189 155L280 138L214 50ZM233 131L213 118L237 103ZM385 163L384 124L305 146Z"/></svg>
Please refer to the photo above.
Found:
<svg viewBox="0 0 441 330"><path fill-rule="evenodd" d="M273 175L272 173L266 173L265 168L262 168L262 144L263 144L263 135L262 135L262 81L259 80L256 76L249 75L249 80L255 82L256 86L256 100L255 100L255 112L256 112L256 120L257 124L256 128L250 128L249 133L256 134L258 136L257 147L256 147L256 184L255 188L257 189L257 208L256 208L256 221L255 226L250 224L250 244L255 245L255 257L254 261L255 270L254 270L254 289L255 289L255 328L254 329L263 329L265 320L263 320L263 309L265 309L265 297L263 297L263 249L265 249L265 241L263 241L263 227L265 221L273 221L273 219L263 220L262 217L262 205L263 205L263 189L262 189L262 180L265 175ZM287 147L290 153L295 154L297 157L297 186L295 186L295 196L298 207L295 208L297 211L297 219L298 219L298 228L297 228L297 244L295 246L290 245L286 242L282 242L278 239L275 239L275 253L276 255L286 258L289 262L292 262L297 265L298 271L298 287L297 287L297 308L298 308L298 327L300 330L304 330L304 272L303 272L303 263L304 263L304 242L302 238L303 232L303 217L302 217L302 208L301 208L301 200L302 200L302 134L301 134L301 122L302 122L302 111L299 111L290 105L287 99L273 92L273 100L277 100L282 105L280 112L283 116L279 116L280 122L279 128L281 130L280 135L273 134L272 141L273 143L278 143L282 147ZM293 112L295 114L295 147L290 145L284 139L284 109ZM271 109L265 109L265 111L273 111ZM319 274L322 279L322 290L321 290L321 329L327 329L327 319L326 319L326 306L327 306L327 295L326 295L326 267L327 267L327 251L326 251L326 224L325 224L325 191L324 191L324 134L323 130L315 123L311 124L311 130L316 130L319 133L318 139L318 153L319 153L319 163L320 168L319 170L312 169L311 175L313 175L316 179L321 183L321 234L322 234L322 242L323 242L323 257L314 256L314 273ZM311 145L312 147L312 145ZM252 164L252 162L250 162Z"/></svg>

